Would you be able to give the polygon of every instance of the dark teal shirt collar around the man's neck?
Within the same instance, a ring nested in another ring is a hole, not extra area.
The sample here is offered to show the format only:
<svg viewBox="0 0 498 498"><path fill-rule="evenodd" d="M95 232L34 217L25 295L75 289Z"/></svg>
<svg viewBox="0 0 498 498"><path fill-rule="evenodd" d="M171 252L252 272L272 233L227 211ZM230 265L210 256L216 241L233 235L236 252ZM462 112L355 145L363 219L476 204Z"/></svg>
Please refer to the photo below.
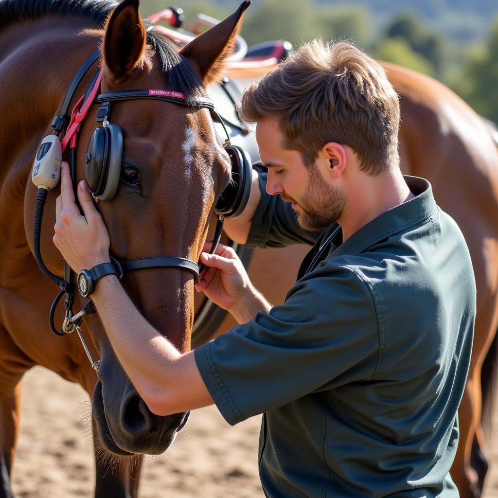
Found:
<svg viewBox="0 0 498 498"><path fill-rule="evenodd" d="M331 255L357 254L432 215L436 209L436 202L432 195L431 184L417 176L403 175L403 177L415 197L377 216L337 249L332 250Z"/></svg>

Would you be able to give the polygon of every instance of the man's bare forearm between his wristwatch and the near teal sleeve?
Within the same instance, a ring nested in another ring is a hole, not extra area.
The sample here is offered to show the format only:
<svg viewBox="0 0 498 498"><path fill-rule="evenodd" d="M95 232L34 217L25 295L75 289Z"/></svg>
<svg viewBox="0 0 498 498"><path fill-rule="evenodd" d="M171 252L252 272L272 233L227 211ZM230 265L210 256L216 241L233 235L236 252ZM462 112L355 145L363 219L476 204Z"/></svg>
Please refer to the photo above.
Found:
<svg viewBox="0 0 498 498"><path fill-rule="evenodd" d="M193 352L182 355L159 334L115 276L102 278L92 299L118 359L151 411L167 415L213 402Z"/></svg>

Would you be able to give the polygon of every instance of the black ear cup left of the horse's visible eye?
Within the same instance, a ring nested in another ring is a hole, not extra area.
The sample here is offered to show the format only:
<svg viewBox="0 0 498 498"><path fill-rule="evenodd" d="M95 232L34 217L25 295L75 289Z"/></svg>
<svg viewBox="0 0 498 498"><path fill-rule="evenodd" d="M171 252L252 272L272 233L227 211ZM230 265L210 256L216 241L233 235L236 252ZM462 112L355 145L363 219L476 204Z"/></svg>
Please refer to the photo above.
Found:
<svg viewBox="0 0 498 498"><path fill-rule="evenodd" d="M88 142L85 177L96 199L111 200L118 190L123 159L123 133L116 124L96 128Z"/></svg>

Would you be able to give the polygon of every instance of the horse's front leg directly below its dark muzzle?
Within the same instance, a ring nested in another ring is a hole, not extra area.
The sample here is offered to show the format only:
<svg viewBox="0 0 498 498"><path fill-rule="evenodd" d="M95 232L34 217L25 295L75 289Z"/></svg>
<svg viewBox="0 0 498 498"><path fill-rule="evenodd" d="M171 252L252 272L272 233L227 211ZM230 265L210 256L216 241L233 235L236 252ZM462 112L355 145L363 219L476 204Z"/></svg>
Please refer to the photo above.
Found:
<svg viewBox="0 0 498 498"><path fill-rule="evenodd" d="M92 418L94 434L95 422ZM95 441L95 438L94 438ZM94 443L95 445L95 443ZM95 447L95 498L137 498L142 456L113 458L107 450Z"/></svg>

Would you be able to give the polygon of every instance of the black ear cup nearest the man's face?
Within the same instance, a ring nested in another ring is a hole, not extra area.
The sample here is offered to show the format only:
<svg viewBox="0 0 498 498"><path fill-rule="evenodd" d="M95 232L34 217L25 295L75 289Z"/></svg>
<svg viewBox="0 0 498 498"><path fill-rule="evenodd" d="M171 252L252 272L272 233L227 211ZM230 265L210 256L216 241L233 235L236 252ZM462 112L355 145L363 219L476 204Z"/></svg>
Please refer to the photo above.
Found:
<svg viewBox="0 0 498 498"><path fill-rule="evenodd" d="M232 181L222 192L214 212L225 218L237 218L244 211L249 201L252 185L252 164L249 154L242 147L228 145L225 147L232 163Z"/></svg>

